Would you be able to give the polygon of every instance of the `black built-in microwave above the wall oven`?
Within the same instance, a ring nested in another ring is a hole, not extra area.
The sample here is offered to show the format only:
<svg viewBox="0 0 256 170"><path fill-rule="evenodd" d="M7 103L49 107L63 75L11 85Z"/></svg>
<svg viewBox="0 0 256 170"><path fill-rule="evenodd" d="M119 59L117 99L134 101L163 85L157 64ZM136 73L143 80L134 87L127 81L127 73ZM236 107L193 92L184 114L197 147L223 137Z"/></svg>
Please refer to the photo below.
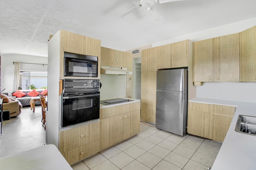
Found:
<svg viewBox="0 0 256 170"><path fill-rule="evenodd" d="M98 57L64 52L64 76L98 77Z"/></svg>

